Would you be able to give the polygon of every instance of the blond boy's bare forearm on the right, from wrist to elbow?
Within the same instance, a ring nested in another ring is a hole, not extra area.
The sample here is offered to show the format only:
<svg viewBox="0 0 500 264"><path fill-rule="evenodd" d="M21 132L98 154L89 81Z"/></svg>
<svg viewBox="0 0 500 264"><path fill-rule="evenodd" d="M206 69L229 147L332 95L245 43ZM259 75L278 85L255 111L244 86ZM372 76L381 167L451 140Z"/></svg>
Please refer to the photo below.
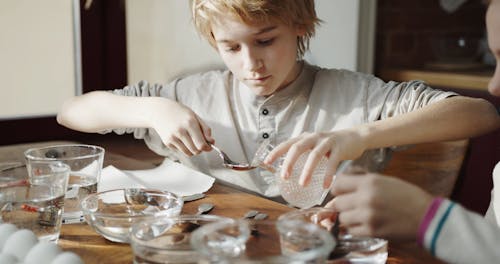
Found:
<svg viewBox="0 0 500 264"><path fill-rule="evenodd" d="M415 111L357 128L365 149L457 140L500 127L495 107L484 99L454 96Z"/></svg>

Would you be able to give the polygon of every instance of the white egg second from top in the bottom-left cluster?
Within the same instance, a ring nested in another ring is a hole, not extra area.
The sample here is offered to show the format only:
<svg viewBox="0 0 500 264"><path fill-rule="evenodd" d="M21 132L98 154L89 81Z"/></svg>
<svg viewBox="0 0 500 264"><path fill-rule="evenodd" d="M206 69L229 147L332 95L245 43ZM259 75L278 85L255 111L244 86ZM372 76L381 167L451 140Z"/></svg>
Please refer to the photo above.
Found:
<svg viewBox="0 0 500 264"><path fill-rule="evenodd" d="M2 253L12 254L20 261L23 261L28 251L36 243L38 243L38 238L31 230L21 229L7 238Z"/></svg>

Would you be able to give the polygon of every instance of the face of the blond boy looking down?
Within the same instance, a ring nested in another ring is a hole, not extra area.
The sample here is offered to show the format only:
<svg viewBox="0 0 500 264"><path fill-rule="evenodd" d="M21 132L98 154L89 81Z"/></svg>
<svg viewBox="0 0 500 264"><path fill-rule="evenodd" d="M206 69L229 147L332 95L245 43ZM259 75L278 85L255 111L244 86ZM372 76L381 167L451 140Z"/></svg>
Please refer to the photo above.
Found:
<svg viewBox="0 0 500 264"><path fill-rule="evenodd" d="M272 95L299 74L298 30L277 22L247 25L228 16L212 25L212 33L226 66L257 95Z"/></svg>

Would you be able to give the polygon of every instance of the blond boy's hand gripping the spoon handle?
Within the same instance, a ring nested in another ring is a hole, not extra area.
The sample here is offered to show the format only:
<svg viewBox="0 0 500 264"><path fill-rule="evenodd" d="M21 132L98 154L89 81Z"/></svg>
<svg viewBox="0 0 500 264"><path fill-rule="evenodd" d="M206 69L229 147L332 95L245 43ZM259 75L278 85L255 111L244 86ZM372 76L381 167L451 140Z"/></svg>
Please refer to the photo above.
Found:
<svg viewBox="0 0 500 264"><path fill-rule="evenodd" d="M151 118L152 128L168 148L187 156L210 151L213 143L211 129L191 109L177 102L165 100Z"/></svg>

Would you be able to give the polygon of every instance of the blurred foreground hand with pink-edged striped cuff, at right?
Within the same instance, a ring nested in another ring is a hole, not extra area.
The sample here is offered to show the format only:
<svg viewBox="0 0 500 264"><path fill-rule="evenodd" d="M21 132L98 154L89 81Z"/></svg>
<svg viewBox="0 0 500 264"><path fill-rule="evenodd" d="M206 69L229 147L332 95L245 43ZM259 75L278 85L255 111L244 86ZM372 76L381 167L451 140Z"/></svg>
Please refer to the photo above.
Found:
<svg viewBox="0 0 500 264"><path fill-rule="evenodd" d="M395 240L416 239L433 199L413 184L372 173L337 175L331 193L325 207L340 212L349 234Z"/></svg>

